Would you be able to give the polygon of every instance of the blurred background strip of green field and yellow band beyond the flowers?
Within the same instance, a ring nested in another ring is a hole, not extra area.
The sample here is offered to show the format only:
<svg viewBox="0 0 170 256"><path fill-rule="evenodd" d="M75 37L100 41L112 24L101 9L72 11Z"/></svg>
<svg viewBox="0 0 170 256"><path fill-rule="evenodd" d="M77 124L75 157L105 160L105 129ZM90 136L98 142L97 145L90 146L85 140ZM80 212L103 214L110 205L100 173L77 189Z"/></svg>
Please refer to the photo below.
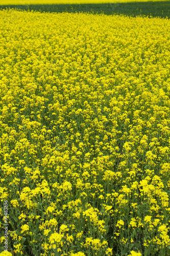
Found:
<svg viewBox="0 0 170 256"><path fill-rule="evenodd" d="M153 17L169 17L170 1L138 1L134 0L28 0L28 1L12 1L2 0L0 9L17 8L21 10L34 10L41 12L90 12L90 13L104 13L123 14L123 15L145 15Z"/></svg>

